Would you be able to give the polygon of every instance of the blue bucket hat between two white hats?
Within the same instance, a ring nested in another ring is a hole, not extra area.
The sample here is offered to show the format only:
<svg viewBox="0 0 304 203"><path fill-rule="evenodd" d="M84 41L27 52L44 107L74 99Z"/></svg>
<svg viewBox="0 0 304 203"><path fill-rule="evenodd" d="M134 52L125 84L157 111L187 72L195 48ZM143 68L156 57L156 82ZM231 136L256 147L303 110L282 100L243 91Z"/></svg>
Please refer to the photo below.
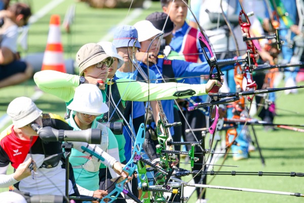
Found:
<svg viewBox="0 0 304 203"><path fill-rule="evenodd" d="M135 41L135 47L140 49L138 32L135 27L131 25L123 25L116 29L113 37L113 44L115 44L116 48L133 47Z"/></svg>

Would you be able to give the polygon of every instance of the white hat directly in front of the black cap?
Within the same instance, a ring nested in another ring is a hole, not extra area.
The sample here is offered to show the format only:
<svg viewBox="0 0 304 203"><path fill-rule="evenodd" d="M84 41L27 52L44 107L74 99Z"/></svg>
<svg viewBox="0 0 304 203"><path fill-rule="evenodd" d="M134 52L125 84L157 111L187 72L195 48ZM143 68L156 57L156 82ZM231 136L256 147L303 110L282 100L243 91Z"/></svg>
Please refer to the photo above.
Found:
<svg viewBox="0 0 304 203"><path fill-rule="evenodd" d="M143 42L160 33L162 30L155 28L155 26L148 20L141 20L134 24L138 32L138 41Z"/></svg>

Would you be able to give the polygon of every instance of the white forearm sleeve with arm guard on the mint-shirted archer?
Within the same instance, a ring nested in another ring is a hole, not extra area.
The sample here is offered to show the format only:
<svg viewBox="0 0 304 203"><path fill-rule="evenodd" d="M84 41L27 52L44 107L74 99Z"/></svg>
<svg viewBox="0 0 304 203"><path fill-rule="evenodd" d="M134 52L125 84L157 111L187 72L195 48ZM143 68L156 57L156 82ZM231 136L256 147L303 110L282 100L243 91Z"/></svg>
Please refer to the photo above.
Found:
<svg viewBox="0 0 304 203"><path fill-rule="evenodd" d="M115 158L113 158L112 156L110 156L108 153L106 153L105 151L103 151L101 148L96 147L95 150L92 147L92 145L89 145L88 143L83 143L83 142L72 142L73 143L73 147L74 149L77 149L78 151L87 154L87 155L91 155L88 152L85 152L83 149L81 149L81 147L85 147L91 151L94 151L96 154L99 154L100 156L102 156L104 158L104 161L101 160L101 163L103 163L104 165L108 166L108 167L112 167L113 164L115 162L117 162L117 160ZM98 157L97 157L98 158Z"/></svg>

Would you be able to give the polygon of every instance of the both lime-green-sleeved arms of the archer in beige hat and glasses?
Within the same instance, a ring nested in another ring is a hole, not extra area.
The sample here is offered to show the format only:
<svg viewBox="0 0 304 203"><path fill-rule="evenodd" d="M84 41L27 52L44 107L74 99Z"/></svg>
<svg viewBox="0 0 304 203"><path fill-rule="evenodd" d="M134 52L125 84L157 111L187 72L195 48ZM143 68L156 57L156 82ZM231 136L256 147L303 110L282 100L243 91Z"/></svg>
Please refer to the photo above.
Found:
<svg viewBox="0 0 304 203"><path fill-rule="evenodd" d="M73 98L74 89L79 86L79 78L76 75L57 71L41 71L34 75L34 81L40 89L56 95L66 102ZM183 83L147 84L129 79L119 79L116 82L121 98L130 101L166 100L199 96L206 94L216 84L215 80L199 85ZM221 86L221 84L217 85Z"/></svg>

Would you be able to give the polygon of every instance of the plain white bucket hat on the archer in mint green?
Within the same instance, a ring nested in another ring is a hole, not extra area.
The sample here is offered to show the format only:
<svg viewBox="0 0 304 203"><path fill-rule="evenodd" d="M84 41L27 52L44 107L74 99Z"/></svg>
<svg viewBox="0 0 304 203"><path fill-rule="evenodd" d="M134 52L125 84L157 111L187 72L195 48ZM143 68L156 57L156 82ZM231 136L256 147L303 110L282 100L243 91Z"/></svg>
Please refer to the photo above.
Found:
<svg viewBox="0 0 304 203"><path fill-rule="evenodd" d="M109 110L107 105L103 103L100 89L93 84L78 86L75 89L74 98L67 108L89 115L100 115Z"/></svg>

